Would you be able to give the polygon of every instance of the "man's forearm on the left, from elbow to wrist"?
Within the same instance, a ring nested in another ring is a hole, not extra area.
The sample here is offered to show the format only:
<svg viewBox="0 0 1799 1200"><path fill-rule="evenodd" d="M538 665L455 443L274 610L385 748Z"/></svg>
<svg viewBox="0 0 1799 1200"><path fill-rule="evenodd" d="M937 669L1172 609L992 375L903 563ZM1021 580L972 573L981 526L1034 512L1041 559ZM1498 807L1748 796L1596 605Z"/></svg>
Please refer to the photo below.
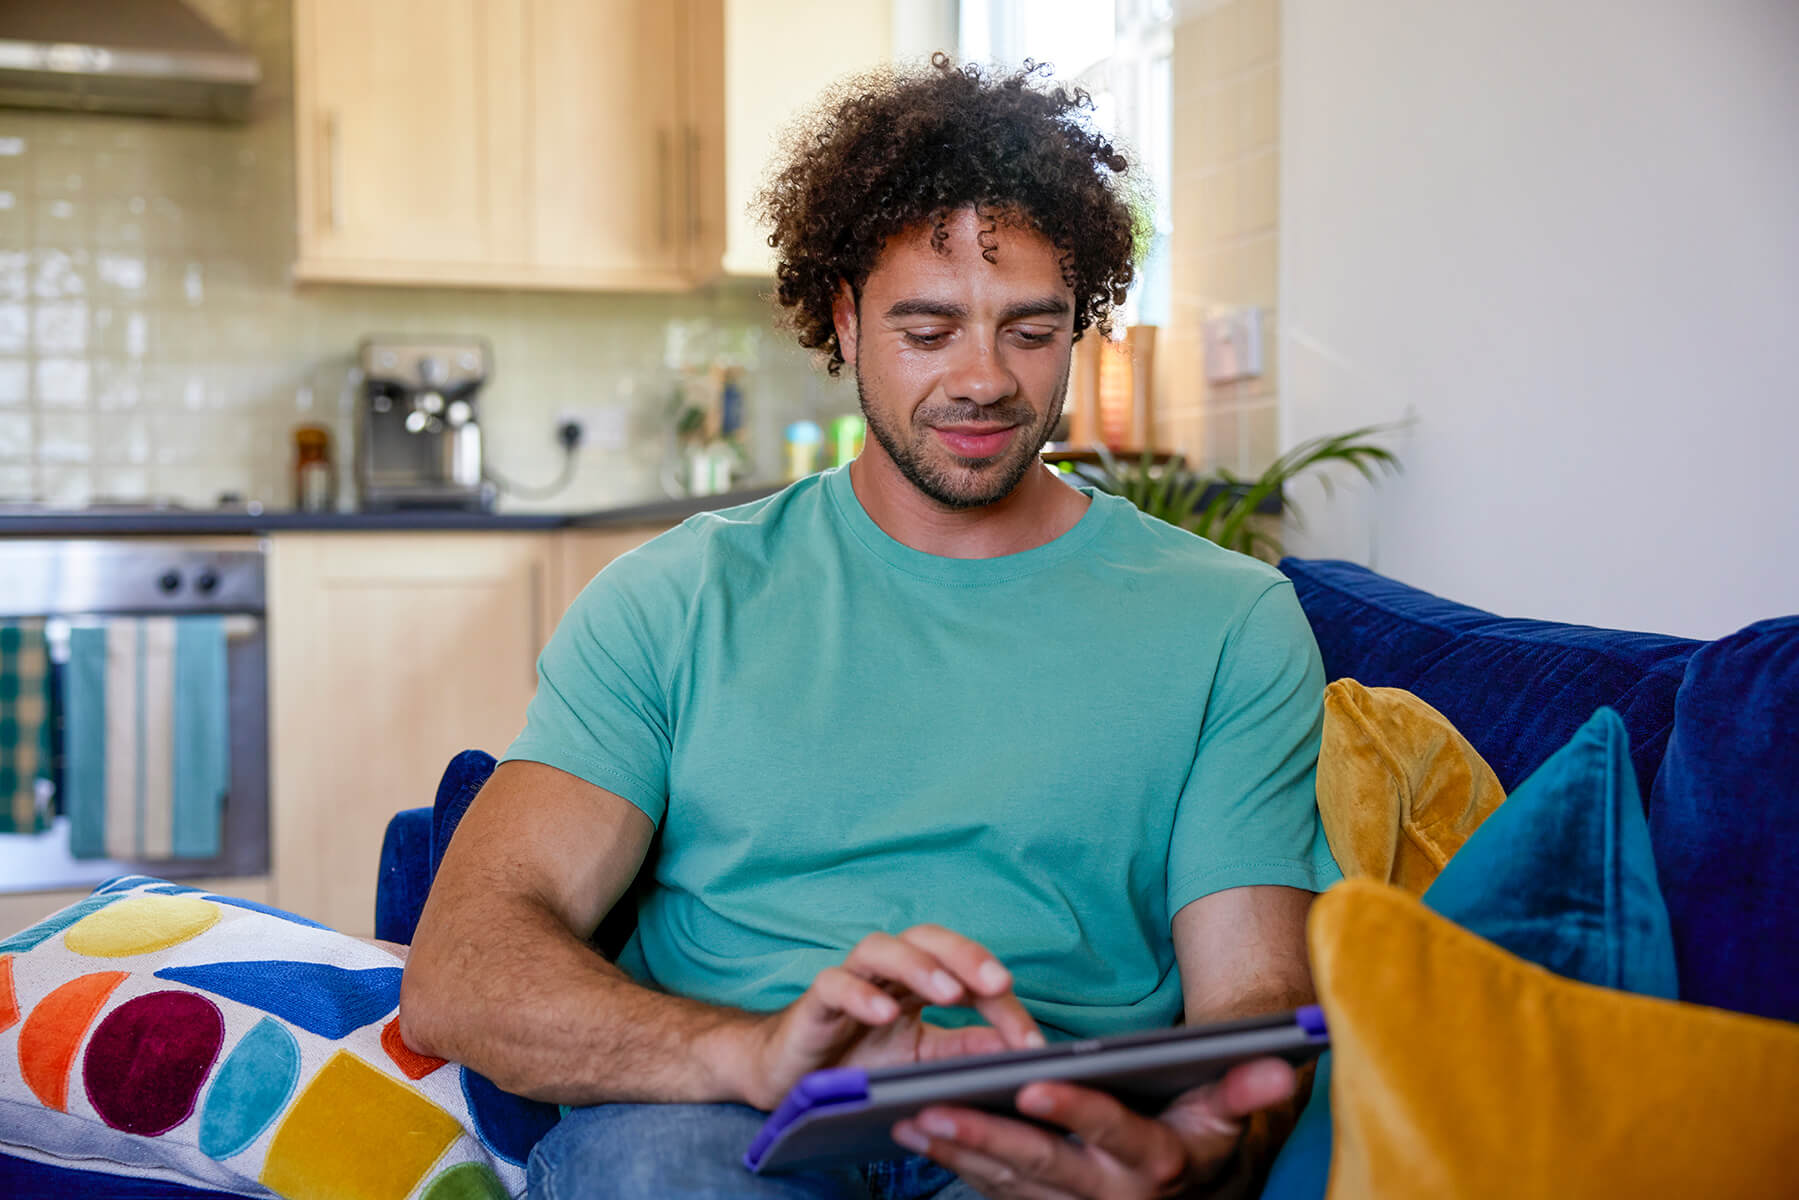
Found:
<svg viewBox="0 0 1799 1200"><path fill-rule="evenodd" d="M757 1016L651 991L543 905L506 900L414 945L410 1047L563 1105L741 1101Z"/></svg>

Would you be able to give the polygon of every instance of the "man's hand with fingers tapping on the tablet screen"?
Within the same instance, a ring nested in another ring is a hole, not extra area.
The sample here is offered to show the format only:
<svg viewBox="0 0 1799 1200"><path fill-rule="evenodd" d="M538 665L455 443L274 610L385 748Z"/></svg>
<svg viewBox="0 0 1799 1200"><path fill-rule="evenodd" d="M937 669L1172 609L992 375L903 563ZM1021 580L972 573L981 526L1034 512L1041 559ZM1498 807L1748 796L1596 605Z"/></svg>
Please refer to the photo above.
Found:
<svg viewBox="0 0 1799 1200"><path fill-rule="evenodd" d="M944 1029L919 1020L926 1004L968 1004L986 1025ZM752 1027L743 1097L774 1108L820 1067L883 1067L957 1054L1043 1045L1036 1022L1011 990L1011 972L984 946L941 925L898 937L869 934L842 966Z"/></svg>

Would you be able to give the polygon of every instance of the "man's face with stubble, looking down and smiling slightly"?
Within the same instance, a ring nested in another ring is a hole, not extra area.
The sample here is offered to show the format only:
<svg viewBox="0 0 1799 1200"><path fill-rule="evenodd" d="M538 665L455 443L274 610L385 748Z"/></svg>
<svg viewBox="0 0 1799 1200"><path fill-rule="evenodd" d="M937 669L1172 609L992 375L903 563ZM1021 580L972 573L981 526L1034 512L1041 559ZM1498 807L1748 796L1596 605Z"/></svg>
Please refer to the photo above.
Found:
<svg viewBox="0 0 1799 1200"><path fill-rule="evenodd" d="M874 434L864 455L950 509L1018 486L1069 389L1074 293L1061 255L1034 230L989 225L973 209L950 214L943 250L930 225L894 236L860 304L844 286L835 309Z"/></svg>

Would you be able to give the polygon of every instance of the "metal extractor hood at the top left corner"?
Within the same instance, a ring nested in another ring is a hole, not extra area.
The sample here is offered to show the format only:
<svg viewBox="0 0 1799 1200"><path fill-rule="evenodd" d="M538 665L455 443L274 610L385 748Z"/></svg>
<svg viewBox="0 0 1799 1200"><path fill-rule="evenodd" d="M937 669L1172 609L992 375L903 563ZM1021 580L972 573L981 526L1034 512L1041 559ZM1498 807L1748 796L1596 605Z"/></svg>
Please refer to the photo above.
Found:
<svg viewBox="0 0 1799 1200"><path fill-rule="evenodd" d="M0 0L0 104L243 121L261 76L180 0Z"/></svg>

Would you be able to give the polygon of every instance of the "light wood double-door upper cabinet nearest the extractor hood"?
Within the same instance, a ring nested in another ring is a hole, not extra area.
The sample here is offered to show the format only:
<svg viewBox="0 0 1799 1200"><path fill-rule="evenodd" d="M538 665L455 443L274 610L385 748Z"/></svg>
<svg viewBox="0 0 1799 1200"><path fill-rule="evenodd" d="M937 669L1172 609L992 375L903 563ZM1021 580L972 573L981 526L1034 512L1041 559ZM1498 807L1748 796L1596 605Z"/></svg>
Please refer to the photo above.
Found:
<svg viewBox="0 0 1799 1200"><path fill-rule="evenodd" d="M295 0L293 22L297 279L718 273L721 0Z"/></svg>

